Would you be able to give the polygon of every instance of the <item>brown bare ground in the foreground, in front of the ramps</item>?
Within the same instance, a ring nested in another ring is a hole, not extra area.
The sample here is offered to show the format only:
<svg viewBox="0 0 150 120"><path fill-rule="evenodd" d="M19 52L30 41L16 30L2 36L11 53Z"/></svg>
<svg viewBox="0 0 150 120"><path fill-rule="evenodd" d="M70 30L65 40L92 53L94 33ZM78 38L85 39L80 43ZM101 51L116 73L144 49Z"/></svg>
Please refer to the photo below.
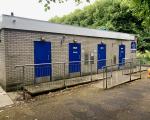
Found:
<svg viewBox="0 0 150 120"><path fill-rule="evenodd" d="M98 84L37 96L3 109L0 120L150 119L150 80L137 80L105 91Z"/></svg>

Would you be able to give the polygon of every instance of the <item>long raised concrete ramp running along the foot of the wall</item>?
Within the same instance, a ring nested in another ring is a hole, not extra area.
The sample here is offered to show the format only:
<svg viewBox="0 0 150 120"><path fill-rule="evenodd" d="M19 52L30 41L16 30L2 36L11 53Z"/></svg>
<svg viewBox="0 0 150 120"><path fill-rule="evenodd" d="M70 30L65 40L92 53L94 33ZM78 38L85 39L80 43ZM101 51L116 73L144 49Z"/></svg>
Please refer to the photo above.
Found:
<svg viewBox="0 0 150 120"><path fill-rule="evenodd" d="M24 89L31 95L39 94L47 91L52 91L56 89L71 87L79 84L85 84L90 83L97 80L103 79L103 73L82 77L74 77L69 79L63 79L63 80L57 80L57 81L51 81L51 82L45 82L45 83L39 83L39 84L32 84L32 85L26 85L24 86Z"/></svg>

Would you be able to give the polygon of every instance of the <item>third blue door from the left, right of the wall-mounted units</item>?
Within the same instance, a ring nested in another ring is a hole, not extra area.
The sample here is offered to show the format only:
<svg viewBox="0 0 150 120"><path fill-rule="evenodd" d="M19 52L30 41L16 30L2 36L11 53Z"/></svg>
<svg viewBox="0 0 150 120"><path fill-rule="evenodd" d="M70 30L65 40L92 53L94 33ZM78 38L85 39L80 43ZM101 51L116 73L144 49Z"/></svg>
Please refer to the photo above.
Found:
<svg viewBox="0 0 150 120"><path fill-rule="evenodd" d="M97 68L102 69L106 66L106 44L101 43L97 46Z"/></svg>

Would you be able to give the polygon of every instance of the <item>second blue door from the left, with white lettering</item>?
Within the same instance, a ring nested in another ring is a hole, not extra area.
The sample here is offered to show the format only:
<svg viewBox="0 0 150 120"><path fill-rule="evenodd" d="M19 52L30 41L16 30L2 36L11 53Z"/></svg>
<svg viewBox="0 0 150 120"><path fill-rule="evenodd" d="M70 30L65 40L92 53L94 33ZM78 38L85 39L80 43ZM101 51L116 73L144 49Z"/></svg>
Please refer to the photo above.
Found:
<svg viewBox="0 0 150 120"><path fill-rule="evenodd" d="M69 73L81 71L81 44L69 43Z"/></svg>

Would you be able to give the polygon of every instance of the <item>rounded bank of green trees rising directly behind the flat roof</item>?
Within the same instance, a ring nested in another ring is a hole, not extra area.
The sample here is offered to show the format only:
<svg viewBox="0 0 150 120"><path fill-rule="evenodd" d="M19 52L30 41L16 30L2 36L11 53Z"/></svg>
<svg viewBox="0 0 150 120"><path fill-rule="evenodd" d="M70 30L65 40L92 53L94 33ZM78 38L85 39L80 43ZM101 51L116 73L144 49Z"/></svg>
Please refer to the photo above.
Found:
<svg viewBox="0 0 150 120"><path fill-rule="evenodd" d="M54 17L50 22L128 33L143 30L142 20L133 16L129 7L119 0L98 0L83 10L60 18Z"/></svg>

